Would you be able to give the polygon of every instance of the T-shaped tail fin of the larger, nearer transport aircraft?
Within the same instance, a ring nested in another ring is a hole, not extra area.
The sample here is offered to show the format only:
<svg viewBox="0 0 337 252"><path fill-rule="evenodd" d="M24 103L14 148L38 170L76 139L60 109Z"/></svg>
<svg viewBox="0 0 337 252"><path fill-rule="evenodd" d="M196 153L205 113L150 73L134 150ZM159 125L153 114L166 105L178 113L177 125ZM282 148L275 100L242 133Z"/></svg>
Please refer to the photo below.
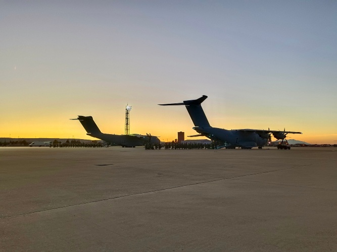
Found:
<svg viewBox="0 0 337 252"><path fill-rule="evenodd" d="M181 103L168 103L168 104L158 104L162 106L169 106L169 105L185 105L186 109L191 117L194 125L196 127L211 127L206 114L201 106L201 103L206 100L207 96L203 95L199 99L196 100L188 100L183 101Z"/></svg>

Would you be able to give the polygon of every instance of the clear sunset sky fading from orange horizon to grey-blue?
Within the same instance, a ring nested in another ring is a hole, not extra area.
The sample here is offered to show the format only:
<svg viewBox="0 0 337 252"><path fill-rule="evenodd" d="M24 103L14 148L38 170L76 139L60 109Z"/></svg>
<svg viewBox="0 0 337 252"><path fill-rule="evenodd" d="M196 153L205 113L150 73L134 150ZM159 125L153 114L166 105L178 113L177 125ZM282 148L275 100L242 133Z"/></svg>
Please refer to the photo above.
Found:
<svg viewBox="0 0 337 252"><path fill-rule="evenodd" d="M213 127L337 143L337 1L0 0L0 137L172 141L207 95ZM288 135L289 136L289 135Z"/></svg>

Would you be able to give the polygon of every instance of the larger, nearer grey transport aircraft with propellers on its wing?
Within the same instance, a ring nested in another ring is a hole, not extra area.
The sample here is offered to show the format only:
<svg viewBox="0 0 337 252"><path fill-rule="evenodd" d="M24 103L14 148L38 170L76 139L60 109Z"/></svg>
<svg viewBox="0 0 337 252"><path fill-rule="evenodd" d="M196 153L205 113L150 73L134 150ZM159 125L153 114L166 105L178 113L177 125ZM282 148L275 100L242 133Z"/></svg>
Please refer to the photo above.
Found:
<svg viewBox="0 0 337 252"><path fill-rule="evenodd" d="M302 134L301 132L291 132L291 131L270 131L267 130L224 130L219 128L211 127L207 120L205 112L201 106L201 103L206 100L207 96L203 95L196 100L183 101L181 103L169 103L169 104L158 104L162 106L168 105L185 105L186 109L191 117L195 127L193 129L200 133L199 135L189 136L189 137L201 137L205 136L213 141L221 142L222 145L218 148L235 149L235 147L240 147L242 149L251 149L253 147L259 147L262 149L263 146L270 139L271 134L279 140L285 140L287 134ZM286 141L286 140L285 140ZM282 145L282 144L281 144ZM282 145L283 146L283 145ZM282 149L290 149L284 146Z"/></svg>

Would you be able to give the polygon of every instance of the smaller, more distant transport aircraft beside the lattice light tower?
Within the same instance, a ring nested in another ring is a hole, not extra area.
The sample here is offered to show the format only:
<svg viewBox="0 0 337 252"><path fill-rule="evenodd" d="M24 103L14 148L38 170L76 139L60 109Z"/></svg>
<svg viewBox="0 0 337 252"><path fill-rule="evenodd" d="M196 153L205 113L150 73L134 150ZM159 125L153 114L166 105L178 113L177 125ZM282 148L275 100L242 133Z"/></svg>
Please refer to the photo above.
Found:
<svg viewBox="0 0 337 252"><path fill-rule="evenodd" d="M92 116L83 116L79 115L76 119L70 120L79 120L86 130L88 136L101 139L107 143L113 145L121 145L122 147L135 147L146 144L150 141L152 144L159 144L160 140L158 137L139 135L139 134L130 134L130 135L115 135L115 134L105 134L100 131L97 127L97 124L94 122Z"/></svg>

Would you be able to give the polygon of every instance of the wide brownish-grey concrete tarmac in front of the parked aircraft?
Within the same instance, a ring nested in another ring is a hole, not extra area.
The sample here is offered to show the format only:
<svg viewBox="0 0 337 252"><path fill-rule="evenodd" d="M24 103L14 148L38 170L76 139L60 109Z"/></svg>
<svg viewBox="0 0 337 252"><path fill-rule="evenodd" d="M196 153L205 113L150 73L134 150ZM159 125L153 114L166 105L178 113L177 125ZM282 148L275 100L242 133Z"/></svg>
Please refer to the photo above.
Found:
<svg viewBox="0 0 337 252"><path fill-rule="evenodd" d="M0 251L337 251L337 148L0 148Z"/></svg>

